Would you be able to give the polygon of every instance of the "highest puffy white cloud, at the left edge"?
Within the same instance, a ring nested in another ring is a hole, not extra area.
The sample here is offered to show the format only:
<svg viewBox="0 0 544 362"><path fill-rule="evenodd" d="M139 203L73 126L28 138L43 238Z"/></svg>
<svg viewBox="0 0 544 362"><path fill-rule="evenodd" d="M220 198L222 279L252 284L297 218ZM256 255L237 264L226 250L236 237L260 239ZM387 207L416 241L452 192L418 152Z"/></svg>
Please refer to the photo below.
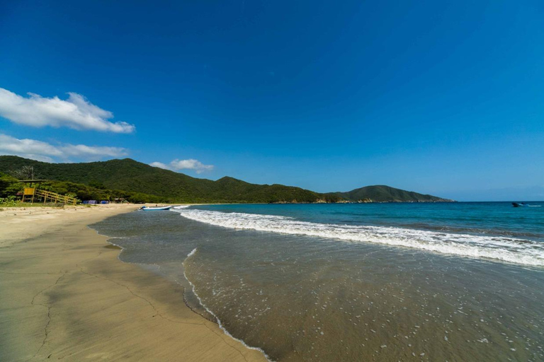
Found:
<svg viewBox="0 0 544 362"><path fill-rule="evenodd" d="M83 95L68 93L67 100L56 95L44 98L28 93L25 98L0 88L0 116L11 122L33 127L69 127L101 132L131 133L135 127L127 122L110 122L113 113L86 100Z"/></svg>

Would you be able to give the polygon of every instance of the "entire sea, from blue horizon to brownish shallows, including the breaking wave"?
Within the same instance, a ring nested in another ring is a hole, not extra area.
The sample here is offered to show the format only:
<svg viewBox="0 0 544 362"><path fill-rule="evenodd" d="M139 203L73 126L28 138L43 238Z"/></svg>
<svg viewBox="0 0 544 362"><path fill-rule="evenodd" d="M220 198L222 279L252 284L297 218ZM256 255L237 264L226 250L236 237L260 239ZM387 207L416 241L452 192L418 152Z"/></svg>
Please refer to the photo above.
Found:
<svg viewBox="0 0 544 362"><path fill-rule="evenodd" d="M94 227L190 291L185 274L230 334L276 361L542 361L542 209L199 206Z"/></svg>

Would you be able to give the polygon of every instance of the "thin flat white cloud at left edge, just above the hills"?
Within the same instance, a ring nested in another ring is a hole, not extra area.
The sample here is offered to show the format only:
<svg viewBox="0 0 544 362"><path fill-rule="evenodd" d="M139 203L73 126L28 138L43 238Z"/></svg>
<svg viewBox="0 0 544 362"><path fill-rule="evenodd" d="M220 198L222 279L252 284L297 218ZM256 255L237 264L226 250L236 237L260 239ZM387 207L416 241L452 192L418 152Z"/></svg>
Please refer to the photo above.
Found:
<svg viewBox="0 0 544 362"><path fill-rule="evenodd" d="M120 147L86 146L84 144L62 144L55 146L35 139L16 139L0 134L0 154L10 154L35 160L52 162L70 158L100 159L127 156L128 151Z"/></svg>

